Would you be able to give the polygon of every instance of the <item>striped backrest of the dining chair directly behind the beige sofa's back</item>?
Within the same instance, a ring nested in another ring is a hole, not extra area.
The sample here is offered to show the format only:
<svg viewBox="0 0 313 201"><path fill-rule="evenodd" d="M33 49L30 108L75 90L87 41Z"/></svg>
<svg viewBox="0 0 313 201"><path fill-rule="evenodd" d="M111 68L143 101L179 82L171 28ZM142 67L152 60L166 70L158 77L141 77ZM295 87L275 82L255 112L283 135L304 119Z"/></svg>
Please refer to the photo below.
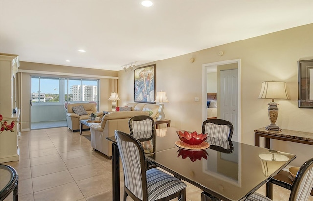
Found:
<svg viewBox="0 0 313 201"><path fill-rule="evenodd" d="M138 115L131 117L128 121L129 130L132 133L141 132L141 131L149 131L155 129L155 122L152 117L147 115Z"/></svg>

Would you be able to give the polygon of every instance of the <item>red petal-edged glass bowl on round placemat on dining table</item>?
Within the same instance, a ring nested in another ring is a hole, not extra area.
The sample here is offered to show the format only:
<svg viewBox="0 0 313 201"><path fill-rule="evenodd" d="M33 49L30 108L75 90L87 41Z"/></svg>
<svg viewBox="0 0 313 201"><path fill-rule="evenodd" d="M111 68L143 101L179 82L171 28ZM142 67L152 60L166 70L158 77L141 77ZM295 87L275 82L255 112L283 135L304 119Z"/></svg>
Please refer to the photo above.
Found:
<svg viewBox="0 0 313 201"><path fill-rule="evenodd" d="M190 150L203 150L207 149L210 145L205 142L207 139L206 134L198 134L196 131L189 133L188 131L176 131L180 141L176 141L175 145Z"/></svg>

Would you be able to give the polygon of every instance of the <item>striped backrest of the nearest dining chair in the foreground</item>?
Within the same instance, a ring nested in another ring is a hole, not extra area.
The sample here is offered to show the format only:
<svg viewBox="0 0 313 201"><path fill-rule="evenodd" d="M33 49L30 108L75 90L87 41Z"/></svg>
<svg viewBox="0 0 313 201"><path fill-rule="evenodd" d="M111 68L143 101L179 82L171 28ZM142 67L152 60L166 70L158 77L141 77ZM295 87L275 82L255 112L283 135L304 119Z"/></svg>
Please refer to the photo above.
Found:
<svg viewBox="0 0 313 201"><path fill-rule="evenodd" d="M115 138L122 159L125 188L140 200L148 200L146 163L140 142L118 130Z"/></svg>

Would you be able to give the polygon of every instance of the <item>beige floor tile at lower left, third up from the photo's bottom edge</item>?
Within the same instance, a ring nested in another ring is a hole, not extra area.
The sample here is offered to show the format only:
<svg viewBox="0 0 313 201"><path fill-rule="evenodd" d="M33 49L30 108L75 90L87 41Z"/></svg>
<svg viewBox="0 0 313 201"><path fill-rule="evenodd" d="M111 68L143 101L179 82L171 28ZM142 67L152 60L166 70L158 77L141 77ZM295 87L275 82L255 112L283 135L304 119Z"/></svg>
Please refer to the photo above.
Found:
<svg viewBox="0 0 313 201"><path fill-rule="evenodd" d="M36 165L31 167L32 177L39 177L55 172L61 172L67 170L67 166L63 161L49 162L42 165Z"/></svg>

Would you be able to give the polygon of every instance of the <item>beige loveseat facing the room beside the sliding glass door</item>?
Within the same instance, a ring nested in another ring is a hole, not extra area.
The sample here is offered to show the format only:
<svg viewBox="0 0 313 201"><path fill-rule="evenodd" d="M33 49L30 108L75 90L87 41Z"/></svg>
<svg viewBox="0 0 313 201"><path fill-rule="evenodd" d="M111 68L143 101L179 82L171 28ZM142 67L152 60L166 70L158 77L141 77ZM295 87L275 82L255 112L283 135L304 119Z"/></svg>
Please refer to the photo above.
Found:
<svg viewBox="0 0 313 201"><path fill-rule="evenodd" d="M88 115L79 116L73 111L73 107L77 107L79 105L83 105L84 109L88 113ZM102 118L103 113L97 112L96 105L94 103L74 103L67 104L67 127L71 129L73 132L80 131L80 120L88 120L91 113L97 114L98 117ZM87 126L83 126L83 129L89 129Z"/></svg>

